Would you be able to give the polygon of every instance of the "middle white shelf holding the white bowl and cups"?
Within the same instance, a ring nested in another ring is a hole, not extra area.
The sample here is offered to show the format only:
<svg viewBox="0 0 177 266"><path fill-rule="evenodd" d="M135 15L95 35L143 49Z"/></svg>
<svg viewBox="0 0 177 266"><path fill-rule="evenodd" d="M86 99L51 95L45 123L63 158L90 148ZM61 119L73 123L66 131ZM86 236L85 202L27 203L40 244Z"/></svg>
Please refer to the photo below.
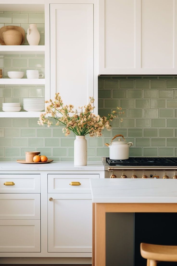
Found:
<svg viewBox="0 0 177 266"><path fill-rule="evenodd" d="M45 84L45 78L0 78L0 84Z"/></svg>

